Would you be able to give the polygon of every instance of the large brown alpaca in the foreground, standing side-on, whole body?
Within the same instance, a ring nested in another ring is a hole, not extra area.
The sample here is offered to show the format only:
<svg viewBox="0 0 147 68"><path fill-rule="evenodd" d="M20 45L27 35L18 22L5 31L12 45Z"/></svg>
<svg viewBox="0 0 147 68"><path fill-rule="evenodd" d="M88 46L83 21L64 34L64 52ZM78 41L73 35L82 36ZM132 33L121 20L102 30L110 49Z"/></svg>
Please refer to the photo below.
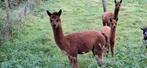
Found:
<svg viewBox="0 0 147 68"><path fill-rule="evenodd" d="M97 63L101 66L103 64L103 50L106 43L103 34L97 31L87 31L64 36L60 19L61 12L60 10L59 12L50 13L47 10L55 42L68 55L72 68L78 68L77 54L87 53L90 50L92 50Z"/></svg>

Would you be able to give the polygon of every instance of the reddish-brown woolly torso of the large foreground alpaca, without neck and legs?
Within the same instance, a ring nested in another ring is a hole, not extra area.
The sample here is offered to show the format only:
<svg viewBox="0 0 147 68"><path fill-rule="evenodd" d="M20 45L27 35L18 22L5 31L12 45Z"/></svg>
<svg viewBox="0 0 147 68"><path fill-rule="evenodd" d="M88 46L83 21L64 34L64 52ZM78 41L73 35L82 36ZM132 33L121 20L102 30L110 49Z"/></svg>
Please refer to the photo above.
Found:
<svg viewBox="0 0 147 68"><path fill-rule="evenodd" d="M105 44L102 33L97 31L78 32L65 37L70 42L71 50L78 49L80 54L92 50L99 43L101 45Z"/></svg>

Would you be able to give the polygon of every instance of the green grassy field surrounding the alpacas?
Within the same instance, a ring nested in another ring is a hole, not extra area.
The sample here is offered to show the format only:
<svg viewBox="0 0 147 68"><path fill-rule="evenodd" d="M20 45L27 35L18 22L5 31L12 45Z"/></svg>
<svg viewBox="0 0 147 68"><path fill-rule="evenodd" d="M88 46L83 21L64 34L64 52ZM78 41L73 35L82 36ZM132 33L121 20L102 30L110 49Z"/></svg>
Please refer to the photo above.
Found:
<svg viewBox="0 0 147 68"><path fill-rule="evenodd" d="M142 31L147 26L147 1L123 0L117 26L115 57L105 57L105 68L147 68ZM114 3L109 0L109 11ZM67 56L55 44L46 10L63 10L64 34L99 31L103 13L101 0L49 0L36 6L13 30L13 40L0 46L0 68L71 68ZM78 56L80 68L97 68L89 52Z"/></svg>

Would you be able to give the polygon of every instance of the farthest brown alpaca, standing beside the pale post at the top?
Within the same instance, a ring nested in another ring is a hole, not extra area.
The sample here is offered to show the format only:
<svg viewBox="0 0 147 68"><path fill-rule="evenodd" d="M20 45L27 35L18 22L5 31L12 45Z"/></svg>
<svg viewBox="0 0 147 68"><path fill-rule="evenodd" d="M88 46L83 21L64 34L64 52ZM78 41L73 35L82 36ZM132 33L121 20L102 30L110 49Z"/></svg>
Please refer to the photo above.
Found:
<svg viewBox="0 0 147 68"><path fill-rule="evenodd" d="M102 21L103 21L103 26L111 25L110 19L115 19L116 21L118 20L118 14L119 14L119 9L122 3L122 0L120 1L114 1L115 2L115 9L114 9L114 14L111 12L104 12L102 15Z"/></svg>

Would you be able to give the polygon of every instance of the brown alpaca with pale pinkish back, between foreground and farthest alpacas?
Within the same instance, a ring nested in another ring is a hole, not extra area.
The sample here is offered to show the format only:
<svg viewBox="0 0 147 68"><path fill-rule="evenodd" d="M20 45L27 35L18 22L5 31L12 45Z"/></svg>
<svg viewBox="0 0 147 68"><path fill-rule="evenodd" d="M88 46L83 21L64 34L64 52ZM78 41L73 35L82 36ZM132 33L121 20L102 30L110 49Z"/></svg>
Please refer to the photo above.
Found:
<svg viewBox="0 0 147 68"><path fill-rule="evenodd" d="M103 26L101 29L101 32L104 34L105 38L106 38L106 48L107 48L107 53L109 52L109 47L111 47L111 53L113 56L113 48L114 46L111 46L111 41L113 41L115 39L115 36L113 34L115 34L115 28L116 28L116 21L114 19L110 19L110 22L112 22L111 27L110 26Z"/></svg>

